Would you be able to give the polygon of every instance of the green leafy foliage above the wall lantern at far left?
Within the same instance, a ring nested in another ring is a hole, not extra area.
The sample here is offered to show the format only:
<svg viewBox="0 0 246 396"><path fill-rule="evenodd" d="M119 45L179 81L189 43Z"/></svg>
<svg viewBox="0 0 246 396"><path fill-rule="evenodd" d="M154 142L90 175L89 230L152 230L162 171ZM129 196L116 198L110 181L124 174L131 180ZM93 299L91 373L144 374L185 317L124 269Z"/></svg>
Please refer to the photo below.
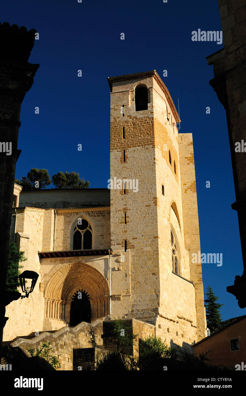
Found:
<svg viewBox="0 0 246 396"><path fill-rule="evenodd" d="M10 243L6 291L17 291L17 287L20 286L18 276L21 274L21 271L19 269L23 268L24 266L19 265L19 263L27 261L27 259L24 257L24 254L25 251L18 251L16 249L14 242Z"/></svg>

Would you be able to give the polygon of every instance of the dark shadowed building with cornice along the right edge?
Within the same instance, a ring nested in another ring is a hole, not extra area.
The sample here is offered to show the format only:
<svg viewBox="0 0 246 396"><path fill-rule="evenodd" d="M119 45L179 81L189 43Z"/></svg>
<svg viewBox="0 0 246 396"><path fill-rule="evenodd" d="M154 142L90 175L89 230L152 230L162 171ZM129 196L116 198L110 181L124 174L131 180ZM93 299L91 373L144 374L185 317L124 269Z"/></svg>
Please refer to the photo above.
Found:
<svg viewBox="0 0 246 396"><path fill-rule="evenodd" d="M246 307L246 1L219 0L224 48L207 57L214 66L210 85L225 108L244 272L227 291Z"/></svg>

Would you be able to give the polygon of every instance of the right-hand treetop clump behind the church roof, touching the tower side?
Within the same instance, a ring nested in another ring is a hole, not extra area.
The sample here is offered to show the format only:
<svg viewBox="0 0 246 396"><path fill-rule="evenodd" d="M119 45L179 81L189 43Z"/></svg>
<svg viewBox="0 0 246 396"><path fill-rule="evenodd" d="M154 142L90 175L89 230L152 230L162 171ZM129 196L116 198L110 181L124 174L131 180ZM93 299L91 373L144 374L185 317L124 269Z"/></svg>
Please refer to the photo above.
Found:
<svg viewBox="0 0 246 396"><path fill-rule="evenodd" d="M76 172L58 172L52 176L52 182L55 188L88 188L90 186L89 181L80 179L80 176Z"/></svg>

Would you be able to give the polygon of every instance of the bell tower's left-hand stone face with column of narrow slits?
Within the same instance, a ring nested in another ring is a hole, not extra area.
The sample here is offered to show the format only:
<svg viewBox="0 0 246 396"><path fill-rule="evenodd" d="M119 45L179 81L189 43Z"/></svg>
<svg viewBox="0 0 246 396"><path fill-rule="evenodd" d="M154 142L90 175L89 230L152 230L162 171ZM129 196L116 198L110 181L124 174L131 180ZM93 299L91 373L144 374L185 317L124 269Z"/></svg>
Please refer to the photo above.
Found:
<svg viewBox="0 0 246 396"><path fill-rule="evenodd" d="M143 79L141 83L149 88L153 78ZM127 186L126 194L123 189L111 189L111 247L114 251L124 251L126 240L127 249L130 249L132 307L130 312L122 314L142 320L153 317L158 310L160 281L153 99L150 91L148 110L135 112L134 87L137 84L139 80L114 83L111 93L111 179L138 179L139 183L137 192ZM123 150L125 163L121 161ZM126 224L122 221L124 212ZM121 278L120 272L116 275ZM114 309L115 314L121 313L120 301Z"/></svg>

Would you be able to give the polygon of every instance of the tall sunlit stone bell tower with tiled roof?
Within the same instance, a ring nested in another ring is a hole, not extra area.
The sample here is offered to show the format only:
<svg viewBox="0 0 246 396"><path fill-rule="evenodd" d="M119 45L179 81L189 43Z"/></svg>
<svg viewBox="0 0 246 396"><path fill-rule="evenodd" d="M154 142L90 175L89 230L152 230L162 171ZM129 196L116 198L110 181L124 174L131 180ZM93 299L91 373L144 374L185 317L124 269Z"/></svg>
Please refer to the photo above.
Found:
<svg viewBox="0 0 246 396"><path fill-rule="evenodd" d="M178 134L177 110L156 70L108 82L112 315L190 345L206 328L201 266L191 263L200 250L192 135Z"/></svg>

